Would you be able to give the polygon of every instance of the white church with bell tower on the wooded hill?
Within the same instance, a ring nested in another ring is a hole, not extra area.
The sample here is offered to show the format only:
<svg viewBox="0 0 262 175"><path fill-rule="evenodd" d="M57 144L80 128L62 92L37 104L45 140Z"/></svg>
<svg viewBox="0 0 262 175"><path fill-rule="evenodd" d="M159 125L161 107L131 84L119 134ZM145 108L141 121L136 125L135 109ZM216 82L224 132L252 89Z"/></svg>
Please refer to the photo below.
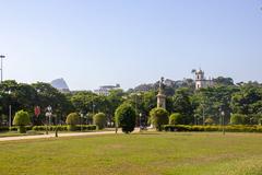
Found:
<svg viewBox="0 0 262 175"><path fill-rule="evenodd" d="M195 90L205 89L214 85L212 79L209 80L205 79L204 71L202 71L201 69L194 71L194 73L195 73Z"/></svg>

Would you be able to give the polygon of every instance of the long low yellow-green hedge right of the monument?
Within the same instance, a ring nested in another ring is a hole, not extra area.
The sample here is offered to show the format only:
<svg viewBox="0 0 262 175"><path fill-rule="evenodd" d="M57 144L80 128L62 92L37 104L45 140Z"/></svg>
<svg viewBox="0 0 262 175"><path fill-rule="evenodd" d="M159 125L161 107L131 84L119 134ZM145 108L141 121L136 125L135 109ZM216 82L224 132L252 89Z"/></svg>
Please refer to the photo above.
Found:
<svg viewBox="0 0 262 175"><path fill-rule="evenodd" d="M165 125L165 131L222 131L222 126L188 126L188 125ZM262 132L262 126L225 126L227 132Z"/></svg>

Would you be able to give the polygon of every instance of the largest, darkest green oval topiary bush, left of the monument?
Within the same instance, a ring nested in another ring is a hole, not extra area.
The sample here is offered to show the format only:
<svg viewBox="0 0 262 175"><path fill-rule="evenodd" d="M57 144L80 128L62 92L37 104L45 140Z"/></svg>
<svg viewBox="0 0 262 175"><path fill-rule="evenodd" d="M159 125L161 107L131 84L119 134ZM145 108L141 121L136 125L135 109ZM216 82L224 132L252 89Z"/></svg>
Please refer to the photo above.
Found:
<svg viewBox="0 0 262 175"><path fill-rule="evenodd" d="M130 133L135 127L135 110L129 104L120 105L116 113L116 122L118 127L122 128L124 133Z"/></svg>

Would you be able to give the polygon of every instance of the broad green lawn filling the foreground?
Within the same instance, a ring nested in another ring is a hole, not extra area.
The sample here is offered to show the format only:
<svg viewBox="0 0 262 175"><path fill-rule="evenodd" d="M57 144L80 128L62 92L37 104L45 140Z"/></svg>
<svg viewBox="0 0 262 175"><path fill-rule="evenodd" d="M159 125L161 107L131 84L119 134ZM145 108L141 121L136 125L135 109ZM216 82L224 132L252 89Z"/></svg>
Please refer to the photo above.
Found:
<svg viewBox="0 0 262 175"><path fill-rule="evenodd" d="M262 135L108 135L0 143L0 174L259 175Z"/></svg>

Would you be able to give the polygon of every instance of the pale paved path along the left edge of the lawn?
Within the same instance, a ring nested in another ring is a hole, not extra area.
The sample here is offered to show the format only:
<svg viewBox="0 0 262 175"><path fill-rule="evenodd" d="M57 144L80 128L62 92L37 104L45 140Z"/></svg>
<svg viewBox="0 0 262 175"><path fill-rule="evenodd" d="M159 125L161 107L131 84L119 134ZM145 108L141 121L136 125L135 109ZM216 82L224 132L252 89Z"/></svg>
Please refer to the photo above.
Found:
<svg viewBox="0 0 262 175"><path fill-rule="evenodd" d="M75 133L59 133L58 137L76 137L76 136L98 136L98 135L114 135L115 131L97 131L97 132L75 132ZM118 133L121 133L118 132ZM0 138L1 141L13 141L13 140L28 140L28 139L45 139L45 138L55 138L55 133L49 135L36 135L36 136L17 136L17 137L4 137Z"/></svg>

